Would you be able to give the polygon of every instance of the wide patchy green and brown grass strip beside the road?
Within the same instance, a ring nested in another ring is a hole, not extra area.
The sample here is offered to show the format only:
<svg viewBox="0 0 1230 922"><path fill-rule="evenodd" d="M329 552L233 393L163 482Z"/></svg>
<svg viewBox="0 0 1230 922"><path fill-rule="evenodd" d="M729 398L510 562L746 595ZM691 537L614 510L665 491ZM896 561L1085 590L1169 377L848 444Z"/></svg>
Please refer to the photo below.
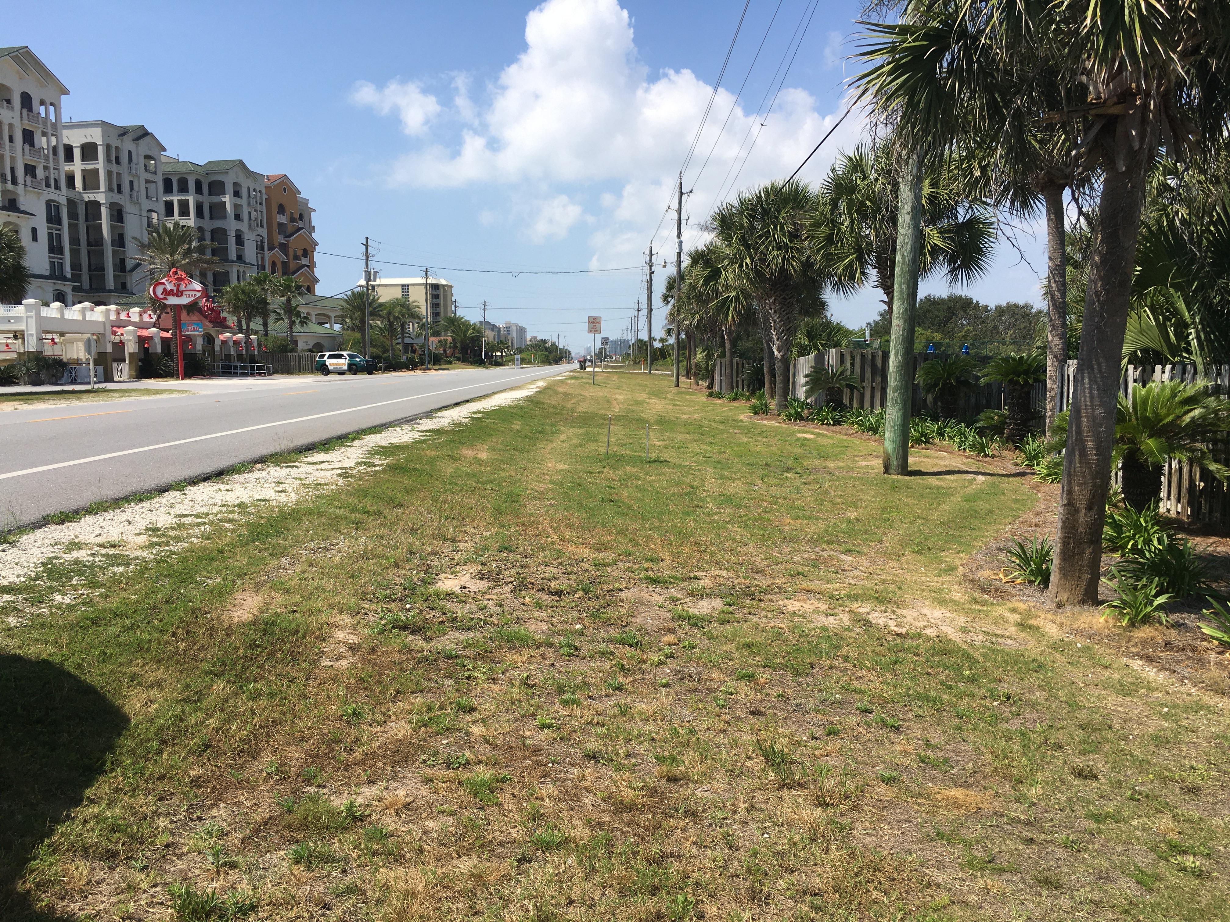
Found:
<svg viewBox="0 0 1230 922"><path fill-rule="evenodd" d="M589 379L6 590L0 916L1224 917L1221 702L959 572L1023 476Z"/></svg>

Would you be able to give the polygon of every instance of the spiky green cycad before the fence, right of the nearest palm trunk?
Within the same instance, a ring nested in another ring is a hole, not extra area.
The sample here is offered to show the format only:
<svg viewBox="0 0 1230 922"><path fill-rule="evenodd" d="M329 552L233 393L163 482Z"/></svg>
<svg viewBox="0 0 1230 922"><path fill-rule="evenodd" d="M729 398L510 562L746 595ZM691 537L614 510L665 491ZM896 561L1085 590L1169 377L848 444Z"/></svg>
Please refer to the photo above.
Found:
<svg viewBox="0 0 1230 922"><path fill-rule="evenodd" d="M1230 468L1214 460L1209 443L1230 431L1230 401L1203 384L1156 381L1119 396L1114 445L1123 459L1123 502L1143 510L1161 492L1167 460L1197 463L1219 481Z"/></svg>

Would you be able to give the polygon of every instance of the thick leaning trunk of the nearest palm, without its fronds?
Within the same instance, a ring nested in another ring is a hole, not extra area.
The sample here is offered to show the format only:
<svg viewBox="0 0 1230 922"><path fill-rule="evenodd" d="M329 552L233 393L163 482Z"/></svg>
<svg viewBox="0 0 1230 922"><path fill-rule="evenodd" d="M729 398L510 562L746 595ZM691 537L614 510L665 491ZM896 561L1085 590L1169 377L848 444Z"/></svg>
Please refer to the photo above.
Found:
<svg viewBox="0 0 1230 922"><path fill-rule="evenodd" d="M1123 334L1145 177L1157 149L1156 124L1149 125L1145 134L1145 143L1127 168L1114 170L1112 164L1102 182L1059 495L1050 578L1050 599L1057 605L1097 604Z"/></svg>

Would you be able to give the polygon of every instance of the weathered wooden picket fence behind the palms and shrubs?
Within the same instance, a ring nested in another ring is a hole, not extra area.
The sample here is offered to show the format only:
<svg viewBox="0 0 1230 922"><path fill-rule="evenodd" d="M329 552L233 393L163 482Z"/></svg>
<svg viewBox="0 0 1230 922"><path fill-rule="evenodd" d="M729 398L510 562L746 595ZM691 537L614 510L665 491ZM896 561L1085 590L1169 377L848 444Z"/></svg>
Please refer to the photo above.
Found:
<svg viewBox="0 0 1230 922"><path fill-rule="evenodd" d="M922 354L914 357L914 369L925 361ZM827 368L847 368L859 376L862 390L846 388L841 393L841 402L847 407L861 409L879 409L884 406L888 396L888 353L878 349L829 349L824 353L804 355L795 360L791 375L791 393L795 397L803 397L804 377L817 365ZM1059 411L1068 409L1071 404L1073 380L1076 372L1076 361L1069 361L1059 380ZM1202 376L1196 365L1128 365L1119 382L1119 392L1124 397L1130 397L1132 385L1149 384L1150 381L1208 381L1214 393L1230 396L1230 365L1216 365L1205 368ZM1005 390L1002 385L983 385L962 397L959 414L963 418L973 418L984 409L1002 409ZM822 397L812 401L819 404ZM1033 406L1039 413L1046 409L1047 388L1046 385L1037 385L1033 388ZM934 411L932 401L922 397L918 385L914 386L913 412ZM1214 455L1221 463L1230 463L1230 444L1221 443L1213 446ZM1118 482L1119 473L1114 472ZM1186 522L1200 522L1213 527L1225 529L1230 526L1230 489L1218 481L1208 471L1197 465L1171 461L1162 472L1162 486L1160 508L1167 515L1181 519Z"/></svg>

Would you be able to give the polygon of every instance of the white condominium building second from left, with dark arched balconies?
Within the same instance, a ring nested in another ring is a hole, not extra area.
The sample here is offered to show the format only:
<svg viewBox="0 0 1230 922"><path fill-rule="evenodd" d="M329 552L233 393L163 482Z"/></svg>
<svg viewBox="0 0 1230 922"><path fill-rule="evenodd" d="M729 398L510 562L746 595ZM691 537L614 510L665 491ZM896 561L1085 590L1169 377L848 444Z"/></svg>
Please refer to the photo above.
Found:
<svg viewBox="0 0 1230 922"><path fill-rule="evenodd" d="M81 297L144 291L138 242L162 213L161 157L166 148L145 125L65 122L64 219L68 263Z"/></svg>

